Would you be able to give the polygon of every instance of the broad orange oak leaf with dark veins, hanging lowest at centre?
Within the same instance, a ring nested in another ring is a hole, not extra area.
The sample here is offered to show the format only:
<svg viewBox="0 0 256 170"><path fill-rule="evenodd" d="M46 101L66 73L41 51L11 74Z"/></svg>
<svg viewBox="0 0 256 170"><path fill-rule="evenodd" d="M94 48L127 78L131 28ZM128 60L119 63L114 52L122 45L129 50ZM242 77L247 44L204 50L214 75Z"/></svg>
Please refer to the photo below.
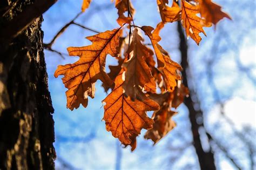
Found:
<svg viewBox="0 0 256 170"><path fill-rule="evenodd" d="M103 100L106 130L118 138L124 145L134 145L132 139L140 134L142 128L152 128L154 121L147 117L146 111L158 110L159 105L147 97L142 101L132 101L123 93L123 72L120 71L114 80L113 91Z"/></svg>

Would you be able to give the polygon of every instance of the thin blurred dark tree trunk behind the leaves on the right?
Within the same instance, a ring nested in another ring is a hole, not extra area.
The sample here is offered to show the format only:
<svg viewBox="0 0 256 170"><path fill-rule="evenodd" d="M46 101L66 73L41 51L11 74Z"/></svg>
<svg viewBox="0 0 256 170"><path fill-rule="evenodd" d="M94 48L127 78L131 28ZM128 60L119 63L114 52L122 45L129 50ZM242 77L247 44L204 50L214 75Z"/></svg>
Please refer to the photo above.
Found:
<svg viewBox="0 0 256 170"><path fill-rule="evenodd" d="M187 61L188 59L187 42L186 42L186 38L180 23L178 23L178 33L180 38L179 49L181 52L181 66L183 67L183 72L182 72L183 84L188 87L187 81L188 81L189 65ZM184 104L188 108L189 118L191 123L191 131L193 134L193 145L194 145L194 148L196 149L200 168L203 170L214 170L216 169L214 164L214 155L211 152L211 149L208 152L204 151L201 144L200 135L199 135L199 128L204 127L203 120L202 120L203 112L200 110L200 108L198 111L195 110L194 108L195 103L192 100L191 95L195 95L195 94L193 94L194 89L192 86L190 87L190 92L191 94L188 98L185 98ZM195 95L194 98L197 98L197 96ZM201 122L197 121L197 118L201 118Z"/></svg>

